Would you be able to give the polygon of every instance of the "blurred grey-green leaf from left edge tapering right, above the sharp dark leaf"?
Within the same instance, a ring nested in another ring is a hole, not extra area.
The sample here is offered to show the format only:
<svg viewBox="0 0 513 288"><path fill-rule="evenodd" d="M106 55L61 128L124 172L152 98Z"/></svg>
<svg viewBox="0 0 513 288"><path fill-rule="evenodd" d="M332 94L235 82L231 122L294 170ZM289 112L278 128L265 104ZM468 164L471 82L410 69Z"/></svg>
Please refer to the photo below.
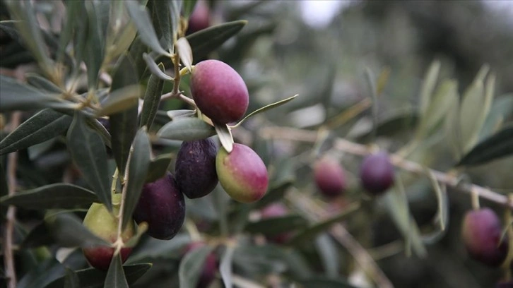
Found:
<svg viewBox="0 0 513 288"><path fill-rule="evenodd" d="M57 94L35 90L14 78L3 75L0 75L0 103L0 112L45 107L73 107L73 103L62 101Z"/></svg>

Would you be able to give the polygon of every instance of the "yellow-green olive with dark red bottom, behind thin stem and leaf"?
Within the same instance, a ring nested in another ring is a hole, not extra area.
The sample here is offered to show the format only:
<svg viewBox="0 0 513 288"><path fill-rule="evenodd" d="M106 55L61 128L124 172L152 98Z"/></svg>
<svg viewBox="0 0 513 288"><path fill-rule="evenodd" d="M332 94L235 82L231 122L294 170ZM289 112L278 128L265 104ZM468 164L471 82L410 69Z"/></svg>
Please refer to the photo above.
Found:
<svg viewBox="0 0 513 288"><path fill-rule="evenodd" d="M114 203L119 203L119 200L121 200L121 194L115 194L112 200ZM119 207L114 206L113 213L117 215L119 213ZM114 243L117 240L117 228L119 222L103 204L93 203L86 213L86 217L84 217L83 224L90 230L90 232L93 232L93 234L107 242ZM134 236L134 234L135 225L134 222L130 222L122 232L123 241L126 243L132 236ZM112 256L114 255L114 247L92 246L85 247L82 251L91 266L99 270L106 271L109 269ZM124 247L121 249L120 253L122 263L126 261L126 258L129 257L131 251L131 247Z"/></svg>

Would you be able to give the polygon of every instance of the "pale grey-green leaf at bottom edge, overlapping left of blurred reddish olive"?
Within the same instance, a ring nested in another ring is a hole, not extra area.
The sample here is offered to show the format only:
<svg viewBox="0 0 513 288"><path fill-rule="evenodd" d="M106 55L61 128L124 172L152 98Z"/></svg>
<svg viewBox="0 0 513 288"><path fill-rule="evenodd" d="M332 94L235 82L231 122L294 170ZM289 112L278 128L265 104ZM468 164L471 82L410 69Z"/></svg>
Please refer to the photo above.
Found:
<svg viewBox="0 0 513 288"><path fill-rule="evenodd" d="M180 288L196 287L205 260L211 251L211 246L203 246L185 254L178 269Z"/></svg>

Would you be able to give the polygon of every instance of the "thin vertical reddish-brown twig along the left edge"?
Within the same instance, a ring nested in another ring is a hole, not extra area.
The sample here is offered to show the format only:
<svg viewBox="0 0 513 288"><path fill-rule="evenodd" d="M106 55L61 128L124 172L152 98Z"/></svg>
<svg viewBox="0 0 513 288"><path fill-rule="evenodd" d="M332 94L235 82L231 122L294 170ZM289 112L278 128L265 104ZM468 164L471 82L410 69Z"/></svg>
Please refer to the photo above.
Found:
<svg viewBox="0 0 513 288"><path fill-rule="evenodd" d="M20 125L21 112L14 112L11 116L11 128L14 130ZM7 182L8 195L16 193L16 166L18 152L11 152L7 157ZM13 257L13 228L16 220L16 207L9 205L7 208L6 231L4 235L4 266L6 270L7 287L16 288L16 269Z"/></svg>

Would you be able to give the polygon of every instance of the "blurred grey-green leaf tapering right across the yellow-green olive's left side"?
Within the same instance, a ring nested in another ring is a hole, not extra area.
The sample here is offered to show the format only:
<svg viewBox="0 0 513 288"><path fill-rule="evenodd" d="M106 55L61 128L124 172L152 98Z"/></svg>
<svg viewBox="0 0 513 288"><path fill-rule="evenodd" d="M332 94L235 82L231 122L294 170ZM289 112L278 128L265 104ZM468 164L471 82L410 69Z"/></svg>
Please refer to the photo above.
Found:
<svg viewBox="0 0 513 288"><path fill-rule="evenodd" d="M57 244L63 247L111 246L83 226L80 218L71 213L61 212L45 220Z"/></svg>

